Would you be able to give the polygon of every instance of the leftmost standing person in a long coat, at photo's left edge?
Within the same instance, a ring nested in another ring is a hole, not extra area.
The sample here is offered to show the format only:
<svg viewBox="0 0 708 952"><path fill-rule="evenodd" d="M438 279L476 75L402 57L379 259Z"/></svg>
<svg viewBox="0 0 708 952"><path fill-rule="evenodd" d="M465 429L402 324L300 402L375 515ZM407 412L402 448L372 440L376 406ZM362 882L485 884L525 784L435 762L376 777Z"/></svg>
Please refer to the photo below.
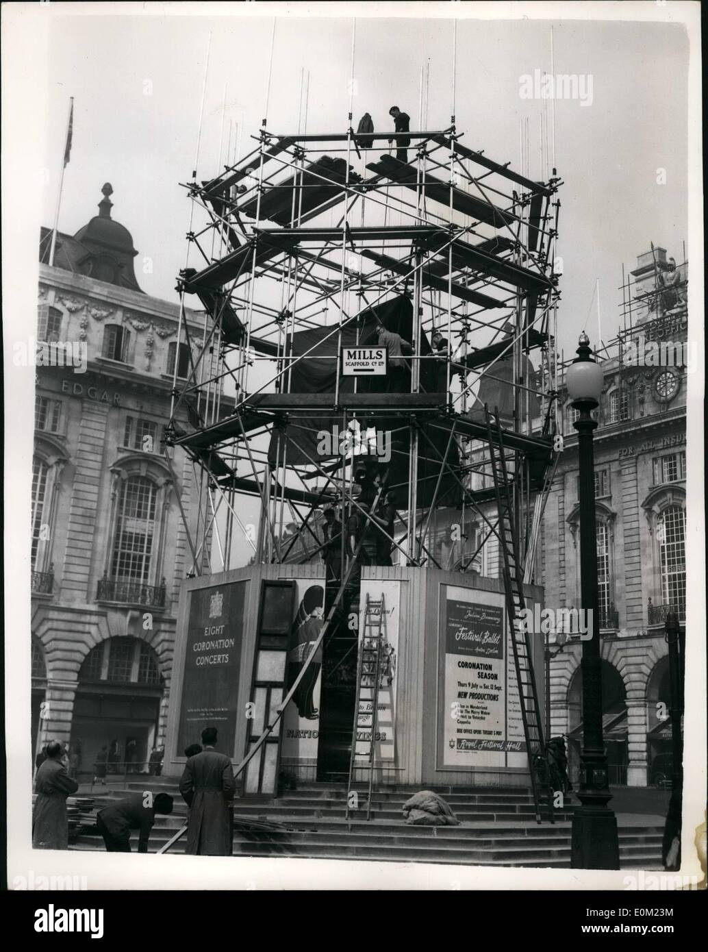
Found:
<svg viewBox="0 0 708 952"><path fill-rule="evenodd" d="M58 741L47 744L47 760L34 779L37 799L32 811L32 846L35 849L67 849L69 817L67 797L79 784L69 777L69 757Z"/></svg>

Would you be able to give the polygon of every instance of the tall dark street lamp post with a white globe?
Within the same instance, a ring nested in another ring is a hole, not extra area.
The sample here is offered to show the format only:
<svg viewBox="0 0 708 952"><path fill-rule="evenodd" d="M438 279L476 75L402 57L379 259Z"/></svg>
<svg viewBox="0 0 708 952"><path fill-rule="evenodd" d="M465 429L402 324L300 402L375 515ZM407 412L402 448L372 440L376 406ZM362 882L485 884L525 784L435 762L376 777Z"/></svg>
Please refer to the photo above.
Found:
<svg viewBox="0 0 708 952"><path fill-rule="evenodd" d="M587 335L580 334L565 386L572 406L580 412L578 430L580 468L580 604L586 612L588 634L582 642L582 748L580 750L580 806L573 813L571 867L619 869L617 818L608 806L612 800L607 777L607 756L602 738L602 679L600 610L598 598L598 537L595 521L595 470L593 430L598 423L591 411L600 403L602 370L592 359Z"/></svg>

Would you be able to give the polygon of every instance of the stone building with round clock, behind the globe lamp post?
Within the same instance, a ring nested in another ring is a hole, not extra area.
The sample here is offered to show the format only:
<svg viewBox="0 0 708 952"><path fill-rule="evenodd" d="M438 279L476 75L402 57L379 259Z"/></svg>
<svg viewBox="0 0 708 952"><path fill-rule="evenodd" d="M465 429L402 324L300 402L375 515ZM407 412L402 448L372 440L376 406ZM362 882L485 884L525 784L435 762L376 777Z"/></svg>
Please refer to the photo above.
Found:
<svg viewBox="0 0 708 952"><path fill-rule="evenodd" d="M631 276L632 329L601 362L604 387L595 430L595 480L610 783L645 786L660 785L671 769L664 622L673 610L685 625L690 348L685 347L685 263L673 268L665 250L655 248L639 255ZM628 317L629 300L624 302ZM560 407L564 449L545 510L541 584L546 605L578 607L577 411L563 391ZM551 635L550 642L551 733L565 735L575 773L581 739L580 636L570 634L558 645Z"/></svg>

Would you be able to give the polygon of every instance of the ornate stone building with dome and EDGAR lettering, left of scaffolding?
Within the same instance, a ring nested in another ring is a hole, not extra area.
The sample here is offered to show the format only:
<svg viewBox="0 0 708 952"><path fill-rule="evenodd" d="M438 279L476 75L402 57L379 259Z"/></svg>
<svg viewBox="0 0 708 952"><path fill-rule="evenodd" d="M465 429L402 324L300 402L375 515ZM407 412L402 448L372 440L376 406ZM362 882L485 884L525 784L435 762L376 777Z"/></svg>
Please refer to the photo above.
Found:
<svg viewBox="0 0 708 952"><path fill-rule="evenodd" d="M198 360L204 316L186 310L192 344L183 330L178 347L180 307L141 290L138 252L103 193L85 228L58 233L51 266L42 230L36 334L51 366L38 357L32 744L69 744L83 773L104 745L115 769L137 770L162 744L180 584L208 567L192 549L199 473L161 442L175 363L183 377ZM57 342L85 346L85 365L58 366L68 351L52 357ZM185 407L186 427L195 411Z"/></svg>

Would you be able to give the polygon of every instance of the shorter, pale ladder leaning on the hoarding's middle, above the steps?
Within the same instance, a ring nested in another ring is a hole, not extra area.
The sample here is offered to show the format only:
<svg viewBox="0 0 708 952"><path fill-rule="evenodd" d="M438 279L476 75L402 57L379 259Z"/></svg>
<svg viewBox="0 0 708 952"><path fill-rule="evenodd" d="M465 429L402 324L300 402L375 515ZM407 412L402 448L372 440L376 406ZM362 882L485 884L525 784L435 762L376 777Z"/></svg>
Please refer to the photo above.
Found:
<svg viewBox="0 0 708 952"><path fill-rule="evenodd" d="M364 607L364 630L359 648L357 664L357 696L354 707L354 727L351 735L351 756L349 758L349 782L346 787L346 814L348 820L352 810L358 809L357 801L352 803L354 774L357 770L368 770L368 794L366 798L366 819L371 819L371 793L374 785L374 767L376 754L376 727L379 714L379 688L382 669L382 628L383 594L381 599L370 599L366 593ZM365 760L365 764L356 761Z"/></svg>

